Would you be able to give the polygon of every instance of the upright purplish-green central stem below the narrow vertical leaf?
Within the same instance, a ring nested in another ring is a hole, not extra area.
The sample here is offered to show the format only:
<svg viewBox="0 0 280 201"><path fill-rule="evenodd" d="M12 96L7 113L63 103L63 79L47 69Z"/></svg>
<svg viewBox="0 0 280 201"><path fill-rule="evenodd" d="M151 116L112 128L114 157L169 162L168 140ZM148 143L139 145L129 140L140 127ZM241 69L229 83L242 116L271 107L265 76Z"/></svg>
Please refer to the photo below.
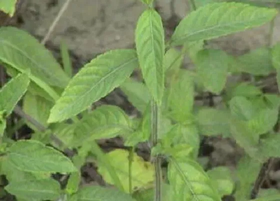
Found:
<svg viewBox="0 0 280 201"><path fill-rule="evenodd" d="M158 137L158 105L152 100L151 101L151 146L155 147L157 145ZM161 158L160 156L155 156L152 160L154 164L154 199L153 201L162 201L161 199Z"/></svg>

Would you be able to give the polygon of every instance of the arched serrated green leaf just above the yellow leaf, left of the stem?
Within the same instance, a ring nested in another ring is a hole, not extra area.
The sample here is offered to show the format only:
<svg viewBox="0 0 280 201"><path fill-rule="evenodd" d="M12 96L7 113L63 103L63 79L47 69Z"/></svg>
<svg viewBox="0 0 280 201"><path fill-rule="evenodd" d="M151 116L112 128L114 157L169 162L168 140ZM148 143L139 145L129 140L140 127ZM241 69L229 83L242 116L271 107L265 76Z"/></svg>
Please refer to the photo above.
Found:
<svg viewBox="0 0 280 201"><path fill-rule="evenodd" d="M85 115L75 128L74 146L131 133L129 117L117 106L103 105Z"/></svg>

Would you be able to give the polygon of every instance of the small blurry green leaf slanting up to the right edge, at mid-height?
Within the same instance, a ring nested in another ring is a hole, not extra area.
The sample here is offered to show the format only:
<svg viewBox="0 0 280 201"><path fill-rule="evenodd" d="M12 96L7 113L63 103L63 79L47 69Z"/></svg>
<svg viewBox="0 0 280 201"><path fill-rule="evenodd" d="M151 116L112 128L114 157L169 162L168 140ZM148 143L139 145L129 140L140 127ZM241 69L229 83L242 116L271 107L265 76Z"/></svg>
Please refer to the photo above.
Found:
<svg viewBox="0 0 280 201"><path fill-rule="evenodd" d="M277 109L262 109L248 121L248 127L255 135L261 135L273 130L278 120Z"/></svg>

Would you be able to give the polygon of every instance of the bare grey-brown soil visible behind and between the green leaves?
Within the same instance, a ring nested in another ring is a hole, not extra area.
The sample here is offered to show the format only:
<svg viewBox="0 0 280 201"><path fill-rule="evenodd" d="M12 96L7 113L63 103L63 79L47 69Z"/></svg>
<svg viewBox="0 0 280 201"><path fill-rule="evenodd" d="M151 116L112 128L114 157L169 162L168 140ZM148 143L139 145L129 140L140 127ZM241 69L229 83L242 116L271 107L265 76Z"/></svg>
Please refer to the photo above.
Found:
<svg viewBox="0 0 280 201"><path fill-rule="evenodd" d="M64 1L23 0L22 2L16 18L5 23L12 23L41 40ZM166 37L172 33L178 21L191 10L188 0L156 0L156 8L163 19ZM51 33L46 47L60 60L59 45L62 40L65 41L70 49L73 67L77 72L87 61L109 49L134 47L134 28L143 9L144 6L140 0L71 0ZM2 15L0 19L4 19ZM212 40L210 44L230 54L240 55L266 45L268 30L269 25L265 24ZM280 41L280 15L275 18L272 44L278 41ZM192 64L186 59L184 65L188 68ZM275 88L274 81L268 89L273 87ZM208 104L208 101L205 100L204 104ZM213 104L217 102L214 98ZM136 114L135 109L119 89L114 90L98 104L103 103L118 105L128 114ZM104 149L122 147L121 139L114 139L113 142L103 141L99 144ZM143 147L139 147L138 151L142 152L141 155L145 159L148 159L148 152ZM200 156L209 157L209 167L226 165L234 169L241 155L242 150L229 139L204 138L201 142ZM84 183L100 181L95 169L96 167L90 163L83 167ZM275 174L273 176L276 177Z"/></svg>

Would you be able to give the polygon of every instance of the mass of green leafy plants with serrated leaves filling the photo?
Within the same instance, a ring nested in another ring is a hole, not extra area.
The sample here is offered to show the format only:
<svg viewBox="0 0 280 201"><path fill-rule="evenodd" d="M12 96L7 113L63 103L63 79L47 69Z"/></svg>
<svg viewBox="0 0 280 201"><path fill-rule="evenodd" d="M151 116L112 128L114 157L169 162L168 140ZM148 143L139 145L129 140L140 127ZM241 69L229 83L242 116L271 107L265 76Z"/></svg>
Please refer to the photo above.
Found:
<svg viewBox="0 0 280 201"><path fill-rule="evenodd" d="M250 73L257 81L274 70L279 80L280 45L240 57L204 47L205 40L273 20L276 9L236 2L204 4L182 19L165 43L152 0L142 2L147 8L137 21L136 50L105 52L73 77L65 46L62 70L32 36L17 28L0 28L0 61L12 77L0 91L0 173L8 180L5 190L18 200L220 201L234 195L247 201L261 164L279 156L280 137L273 130L279 96L262 93L253 83L225 83L230 73ZM175 46L182 46L181 51ZM195 70L180 68L185 55ZM130 78L138 66L144 83ZM87 110L116 87L141 118L130 119L112 105ZM223 108L195 105L196 90L221 94ZM22 110L16 106L20 99ZM30 140L11 140L5 127L12 110L32 128ZM205 172L197 162L200 137L220 134L234 138L245 151L235 189L228 169ZM115 136L123 137L129 149L104 154L96 140ZM135 146L145 141L150 141L151 162L134 154ZM87 158L93 158L103 179L116 189L79 187L78 170ZM161 170L163 159L168 162L166 173ZM64 189L53 173L69 175ZM257 201L279 197L260 192Z"/></svg>

